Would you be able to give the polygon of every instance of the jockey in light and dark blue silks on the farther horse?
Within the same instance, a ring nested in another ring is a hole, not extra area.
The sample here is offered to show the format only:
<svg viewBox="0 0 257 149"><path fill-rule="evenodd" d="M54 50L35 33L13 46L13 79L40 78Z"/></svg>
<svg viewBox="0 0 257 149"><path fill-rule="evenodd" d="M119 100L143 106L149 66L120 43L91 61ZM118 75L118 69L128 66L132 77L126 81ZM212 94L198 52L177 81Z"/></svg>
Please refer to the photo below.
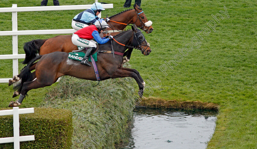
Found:
<svg viewBox="0 0 257 149"><path fill-rule="evenodd" d="M81 28L87 27L88 25L95 24L97 20L100 18L98 17L99 13L105 10L102 7L102 4L99 2L93 3L90 9L87 9L79 14L77 14L73 19L71 26L74 30L80 30ZM105 21L109 21L110 19L106 19Z"/></svg>

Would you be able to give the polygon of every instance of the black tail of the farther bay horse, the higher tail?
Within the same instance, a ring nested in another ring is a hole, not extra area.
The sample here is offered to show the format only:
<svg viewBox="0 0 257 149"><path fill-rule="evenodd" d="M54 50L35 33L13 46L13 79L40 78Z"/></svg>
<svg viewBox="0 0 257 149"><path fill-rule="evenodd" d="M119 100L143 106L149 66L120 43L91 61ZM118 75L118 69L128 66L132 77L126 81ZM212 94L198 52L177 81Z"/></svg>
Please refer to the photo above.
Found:
<svg viewBox="0 0 257 149"><path fill-rule="evenodd" d="M25 51L26 57L22 64L28 64L33 58L39 53L40 47L47 41L47 39L37 39L30 42L25 42L23 49Z"/></svg>

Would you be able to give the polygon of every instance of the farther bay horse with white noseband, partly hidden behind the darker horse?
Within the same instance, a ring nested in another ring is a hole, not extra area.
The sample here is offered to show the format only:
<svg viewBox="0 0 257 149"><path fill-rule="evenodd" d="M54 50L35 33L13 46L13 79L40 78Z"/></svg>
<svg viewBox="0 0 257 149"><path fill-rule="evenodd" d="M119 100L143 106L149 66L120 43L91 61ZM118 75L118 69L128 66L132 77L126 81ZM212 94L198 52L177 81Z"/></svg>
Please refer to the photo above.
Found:
<svg viewBox="0 0 257 149"><path fill-rule="evenodd" d="M151 23L149 23L147 20L143 10L137 5L134 5L134 9L125 10L114 16L110 16L109 19L110 21L107 22L107 24L110 26L108 30L122 31L127 26L124 24L136 24L136 26L146 31L146 33L151 33L153 31ZM114 23L111 21L116 21L123 24ZM111 33L111 35L114 36L118 33L119 32L114 32ZM73 50L78 50L77 46L72 43L71 37L72 35L59 35L49 39L37 39L24 43L23 49L25 51L26 57L23 61L23 64L28 64L29 61L37 56L37 53L43 55L56 51L72 52Z"/></svg>

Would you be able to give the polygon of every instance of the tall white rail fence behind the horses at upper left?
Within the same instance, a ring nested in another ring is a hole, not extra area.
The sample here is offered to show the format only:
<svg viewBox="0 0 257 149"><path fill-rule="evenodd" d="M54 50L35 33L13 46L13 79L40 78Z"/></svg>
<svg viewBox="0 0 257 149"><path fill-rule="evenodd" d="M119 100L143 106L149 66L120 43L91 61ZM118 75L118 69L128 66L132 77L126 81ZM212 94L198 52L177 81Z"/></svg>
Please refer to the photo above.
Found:
<svg viewBox="0 0 257 149"><path fill-rule="evenodd" d="M97 0L95 1L97 2ZM103 8L113 8L113 4L102 4ZM74 29L59 29L59 30L25 30L18 31L17 12L28 11L54 11L54 10L80 10L88 9L91 5L64 5L64 6L44 6L44 7L17 7L13 4L12 7L0 8L0 13L12 12L12 31L0 31L0 36L13 36L13 54L0 55L0 60L13 59L13 76L19 74L18 59L24 59L25 54L18 54L18 35L46 35L46 34L72 34ZM76 14L74 14L75 16ZM99 14L99 17L101 13ZM71 18L72 20L72 18ZM11 78L0 78L0 83L8 83Z"/></svg>

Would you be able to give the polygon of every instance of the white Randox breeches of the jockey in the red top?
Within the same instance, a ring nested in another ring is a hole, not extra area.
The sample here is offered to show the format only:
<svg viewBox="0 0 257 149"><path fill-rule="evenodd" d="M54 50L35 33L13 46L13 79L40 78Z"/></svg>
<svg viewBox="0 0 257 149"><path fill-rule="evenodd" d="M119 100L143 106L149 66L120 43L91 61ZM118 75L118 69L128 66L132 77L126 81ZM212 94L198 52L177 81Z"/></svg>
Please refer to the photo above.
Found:
<svg viewBox="0 0 257 149"><path fill-rule="evenodd" d="M74 45L77 45L77 46L82 46L82 47L87 47L87 48L90 48L90 47L96 48L97 47L96 46L97 42L95 42L93 40L87 40L87 39L80 38L76 34L72 34L71 41Z"/></svg>

